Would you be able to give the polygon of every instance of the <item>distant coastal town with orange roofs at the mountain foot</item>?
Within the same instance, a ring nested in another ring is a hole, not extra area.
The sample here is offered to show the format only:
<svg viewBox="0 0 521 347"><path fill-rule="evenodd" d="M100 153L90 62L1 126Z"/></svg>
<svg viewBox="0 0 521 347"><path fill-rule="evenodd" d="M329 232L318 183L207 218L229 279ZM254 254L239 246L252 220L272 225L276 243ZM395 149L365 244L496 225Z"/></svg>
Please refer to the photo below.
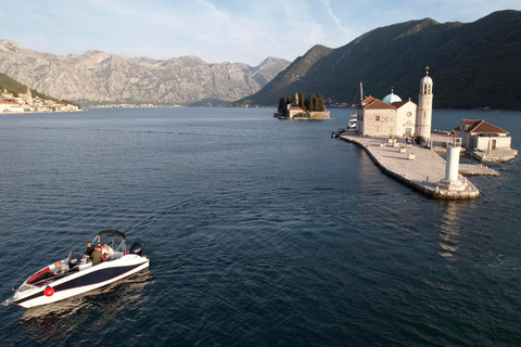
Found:
<svg viewBox="0 0 521 347"><path fill-rule="evenodd" d="M51 99L34 97L30 89L26 93L17 95L9 92L7 89L0 93L0 113L46 113L46 112L77 112L81 111L78 105L68 103L59 103Z"/></svg>

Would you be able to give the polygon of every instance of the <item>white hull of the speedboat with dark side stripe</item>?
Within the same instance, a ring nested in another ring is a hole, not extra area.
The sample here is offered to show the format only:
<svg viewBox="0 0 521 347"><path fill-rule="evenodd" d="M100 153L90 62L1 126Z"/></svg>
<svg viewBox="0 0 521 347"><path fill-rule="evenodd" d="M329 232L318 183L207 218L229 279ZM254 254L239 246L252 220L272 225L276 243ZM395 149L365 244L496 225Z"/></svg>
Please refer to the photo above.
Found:
<svg viewBox="0 0 521 347"><path fill-rule="evenodd" d="M149 259L147 257L134 254L125 255L119 259L105 261L72 273L47 286L35 286L21 292L24 283L14 294L11 301L25 308L60 301L109 285L148 267ZM52 291L50 291L52 295L46 295L45 291L48 287L52 287Z"/></svg>

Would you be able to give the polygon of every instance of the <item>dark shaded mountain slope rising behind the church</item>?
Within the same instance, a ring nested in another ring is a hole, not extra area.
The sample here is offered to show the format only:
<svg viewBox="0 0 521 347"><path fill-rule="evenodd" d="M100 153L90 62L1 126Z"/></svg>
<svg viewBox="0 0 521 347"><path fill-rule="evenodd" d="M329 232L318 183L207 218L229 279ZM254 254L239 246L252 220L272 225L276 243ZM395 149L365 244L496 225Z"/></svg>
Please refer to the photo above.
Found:
<svg viewBox="0 0 521 347"><path fill-rule="evenodd" d="M315 46L257 93L237 104L276 105L295 91L352 104L365 93L394 92L417 102L431 67L434 107L521 108L521 12L499 11L473 23L431 18L371 30L346 46Z"/></svg>

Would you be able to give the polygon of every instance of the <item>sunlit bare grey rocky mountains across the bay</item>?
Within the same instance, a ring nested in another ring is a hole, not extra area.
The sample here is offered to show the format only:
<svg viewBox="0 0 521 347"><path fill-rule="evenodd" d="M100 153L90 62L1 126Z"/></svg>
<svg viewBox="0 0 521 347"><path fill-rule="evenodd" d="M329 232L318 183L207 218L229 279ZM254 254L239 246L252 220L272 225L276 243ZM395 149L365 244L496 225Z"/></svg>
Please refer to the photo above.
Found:
<svg viewBox="0 0 521 347"><path fill-rule="evenodd" d="M94 50L60 56L0 40L0 73L53 98L82 105L226 103L258 91L289 64L277 57L255 67L208 64L198 56L157 61Z"/></svg>

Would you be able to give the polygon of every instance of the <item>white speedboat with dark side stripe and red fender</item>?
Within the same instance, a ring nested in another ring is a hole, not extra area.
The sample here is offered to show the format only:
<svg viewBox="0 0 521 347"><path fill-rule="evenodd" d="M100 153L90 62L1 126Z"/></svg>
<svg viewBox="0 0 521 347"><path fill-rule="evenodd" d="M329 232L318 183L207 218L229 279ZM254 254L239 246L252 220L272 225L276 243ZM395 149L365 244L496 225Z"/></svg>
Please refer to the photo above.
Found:
<svg viewBox="0 0 521 347"><path fill-rule="evenodd" d="M90 256L71 252L66 259L51 264L25 280L4 305L16 304L29 308L55 303L102 287L149 267L149 259L142 254L139 243L134 243L127 250L127 236L117 230L100 231L93 243L100 242L102 235L112 239L112 252L104 261L93 265Z"/></svg>

